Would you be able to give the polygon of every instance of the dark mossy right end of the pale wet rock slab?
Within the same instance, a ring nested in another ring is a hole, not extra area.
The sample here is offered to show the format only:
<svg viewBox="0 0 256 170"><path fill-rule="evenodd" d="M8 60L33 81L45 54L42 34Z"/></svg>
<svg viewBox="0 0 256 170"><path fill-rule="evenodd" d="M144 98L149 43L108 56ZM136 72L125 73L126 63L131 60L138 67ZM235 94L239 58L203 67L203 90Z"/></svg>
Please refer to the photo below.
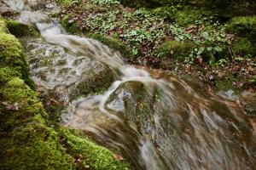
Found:
<svg viewBox="0 0 256 170"><path fill-rule="evenodd" d="M81 96L100 93L108 89L113 82L113 72L108 65L96 63L93 70L84 71L79 82L72 88L70 97L77 99Z"/></svg>

